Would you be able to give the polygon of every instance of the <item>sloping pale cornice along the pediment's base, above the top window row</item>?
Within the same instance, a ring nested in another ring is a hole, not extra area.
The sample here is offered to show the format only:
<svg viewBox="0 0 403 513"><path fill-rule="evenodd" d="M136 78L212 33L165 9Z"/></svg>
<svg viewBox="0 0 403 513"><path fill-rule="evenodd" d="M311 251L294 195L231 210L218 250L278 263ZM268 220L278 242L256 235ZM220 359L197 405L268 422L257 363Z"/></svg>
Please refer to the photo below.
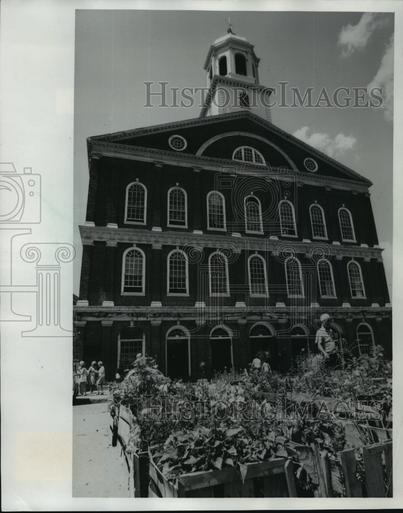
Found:
<svg viewBox="0 0 403 513"><path fill-rule="evenodd" d="M262 168L253 164L239 163L229 159L217 159L204 155L193 155L190 153L177 153L175 151L160 150L156 148L145 148L141 146L129 146L103 141L93 141L92 150L97 154L125 160L134 160L142 162L153 162L155 164L170 164L172 166L187 168L202 168L205 170L216 171L220 173L259 175L262 176ZM280 180L289 180L290 175L286 176L284 168L271 168L273 171L281 169L282 171L275 176ZM273 177L273 173L267 172L267 177ZM331 186L336 189L356 190L367 192L368 184L357 182L355 180L342 179L334 176L323 176L319 174L305 173L303 171L291 170L298 180L304 184L316 186Z"/></svg>

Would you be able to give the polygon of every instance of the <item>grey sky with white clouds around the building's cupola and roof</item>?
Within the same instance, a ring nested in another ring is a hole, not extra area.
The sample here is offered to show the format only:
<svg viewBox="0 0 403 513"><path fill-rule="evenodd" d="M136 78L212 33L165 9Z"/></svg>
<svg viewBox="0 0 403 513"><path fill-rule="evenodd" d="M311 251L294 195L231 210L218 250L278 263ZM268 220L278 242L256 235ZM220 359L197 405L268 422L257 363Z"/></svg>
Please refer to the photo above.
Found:
<svg viewBox="0 0 403 513"><path fill-rule="evenodd" d="M255 45L260 84L382 88L382 106L272 109L275 125L373 182L370 189L392 293L393 30L392 13L78 10L74 68L74 293L88 191L86 137L199 116L193 107L144 107L143 82L204 87L214 41L233 31ZM154 89L155 87L155 89ZM289 97L289 100L291 97Z"/></svg>

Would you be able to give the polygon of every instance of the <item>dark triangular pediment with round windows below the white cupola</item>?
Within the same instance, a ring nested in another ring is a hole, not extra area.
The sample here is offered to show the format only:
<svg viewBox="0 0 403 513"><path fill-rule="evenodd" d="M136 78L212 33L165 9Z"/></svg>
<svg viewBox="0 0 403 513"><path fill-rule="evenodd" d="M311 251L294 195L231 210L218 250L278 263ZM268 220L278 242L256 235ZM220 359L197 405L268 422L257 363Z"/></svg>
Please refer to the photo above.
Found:
<svg viewBox="0 0 403 513"><path fill-rule="evenodd" d="M172 148L175 136L185 141L184 148ZM327 177L366 187L372 185L352 169L246 110L88 137L88 151L93 145L98 146L97 143L127 149L148 148L176 157L194 155L201 162L203 159L233 162L237 148L250 146L274 169L291 169L301 177L315 175L317 179Z"/></svg>

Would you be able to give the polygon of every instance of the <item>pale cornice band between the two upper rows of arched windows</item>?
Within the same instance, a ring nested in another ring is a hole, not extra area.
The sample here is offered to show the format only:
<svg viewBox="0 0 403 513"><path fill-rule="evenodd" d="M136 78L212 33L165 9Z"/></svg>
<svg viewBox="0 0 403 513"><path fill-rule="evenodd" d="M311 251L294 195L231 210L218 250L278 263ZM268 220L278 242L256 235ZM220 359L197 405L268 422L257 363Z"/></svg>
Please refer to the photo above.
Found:
<svg viewBox="0 0 403 513"><path fill-rule="evenodd" d="M293 248L298 254L313 255L316 262L316 251L324 251L332 257L374 258L382 261L381 248L366 248L361 246L330 245L323 242L295 242L287 239L271 240L257 237L234 238L231 235L214 235L210 233L195 234L189 232L153 232L131 228L108 228L107 226L80 226L81 240L83 244L91 244L94 241L123 244L162 244L166 246L198 246L202 248L230 247L237 251L269 251L279 252L281 248Z"/></svg>

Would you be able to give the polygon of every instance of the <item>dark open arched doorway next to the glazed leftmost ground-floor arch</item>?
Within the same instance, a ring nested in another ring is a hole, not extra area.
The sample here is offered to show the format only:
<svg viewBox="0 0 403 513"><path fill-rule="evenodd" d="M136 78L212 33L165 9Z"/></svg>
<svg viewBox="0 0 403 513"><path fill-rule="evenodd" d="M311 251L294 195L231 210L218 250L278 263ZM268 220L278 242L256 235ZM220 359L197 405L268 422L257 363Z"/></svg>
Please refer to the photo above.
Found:
<svg viewBox="0 0 403 513"><path fill-rule="evenodd" d="M166 375L174 379L190 377L190 334L183 326L174 326L166 334Z"/></svg>

